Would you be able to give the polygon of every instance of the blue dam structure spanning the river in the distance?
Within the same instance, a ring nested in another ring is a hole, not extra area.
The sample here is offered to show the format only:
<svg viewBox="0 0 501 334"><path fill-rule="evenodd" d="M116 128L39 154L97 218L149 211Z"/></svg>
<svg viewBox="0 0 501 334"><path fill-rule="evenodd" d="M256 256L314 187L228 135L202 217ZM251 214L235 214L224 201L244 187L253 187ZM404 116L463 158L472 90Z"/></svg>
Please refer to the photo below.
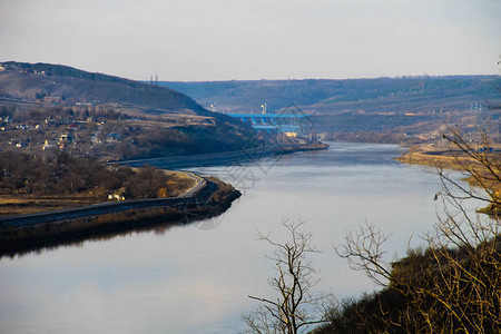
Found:
<svg viewBox="0 0 501 334"><path fill-rule="evenodd" d="M308 115L296 114L227 114L259 131L307 134L312 128Z"/></svg>

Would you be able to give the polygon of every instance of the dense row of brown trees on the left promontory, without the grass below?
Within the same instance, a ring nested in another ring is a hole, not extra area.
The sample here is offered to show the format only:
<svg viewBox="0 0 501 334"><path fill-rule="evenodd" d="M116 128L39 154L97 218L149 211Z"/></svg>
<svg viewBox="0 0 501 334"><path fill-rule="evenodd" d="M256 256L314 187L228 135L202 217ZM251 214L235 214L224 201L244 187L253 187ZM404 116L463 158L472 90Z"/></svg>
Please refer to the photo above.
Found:
<svg viewBox="0 0 501 334"><path fill-rule="evenodd" d="M189 186L164 170L107 166L95 158L0 153L0 190L19 196L82 195L106 199L119 193L126 198L167 197Z"/></svg>

